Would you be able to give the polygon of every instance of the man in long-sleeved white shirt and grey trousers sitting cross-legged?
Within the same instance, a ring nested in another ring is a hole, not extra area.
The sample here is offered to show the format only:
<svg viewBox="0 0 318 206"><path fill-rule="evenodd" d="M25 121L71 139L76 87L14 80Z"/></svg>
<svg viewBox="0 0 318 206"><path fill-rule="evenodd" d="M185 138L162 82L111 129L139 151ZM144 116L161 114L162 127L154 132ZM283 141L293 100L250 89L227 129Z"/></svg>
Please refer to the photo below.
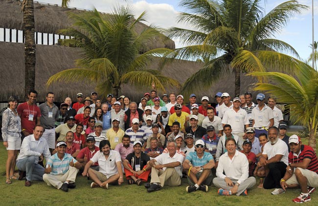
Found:
<svg viewBox="0 0 318 206"><path fill-rule="evenodd" d="M227 138L225 145L227 152L220 157L213 184L220 188L219 195L247 195L247 189L256 183L254 177L249 177L248 159L245 154L236 150L233 138Z"/></svg>

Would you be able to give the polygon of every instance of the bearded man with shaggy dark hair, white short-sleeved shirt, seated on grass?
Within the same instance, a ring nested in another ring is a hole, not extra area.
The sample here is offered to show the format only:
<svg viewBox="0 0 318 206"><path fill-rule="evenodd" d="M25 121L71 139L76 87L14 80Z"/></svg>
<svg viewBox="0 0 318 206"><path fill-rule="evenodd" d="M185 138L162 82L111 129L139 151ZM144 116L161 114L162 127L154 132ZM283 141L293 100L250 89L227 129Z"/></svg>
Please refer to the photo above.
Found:
<svg viewBox="0 0 318 206"><path fill-rule="evenodd" d="M98 162L99 171L93 170L91 165ZM99 143L99 151L85 165L83 176L91 178L91 188L103 187L108 189L108 184L120 185L124 182L123 170L121 168L121 158L119 152L111 149L108 140Z"/></svg>

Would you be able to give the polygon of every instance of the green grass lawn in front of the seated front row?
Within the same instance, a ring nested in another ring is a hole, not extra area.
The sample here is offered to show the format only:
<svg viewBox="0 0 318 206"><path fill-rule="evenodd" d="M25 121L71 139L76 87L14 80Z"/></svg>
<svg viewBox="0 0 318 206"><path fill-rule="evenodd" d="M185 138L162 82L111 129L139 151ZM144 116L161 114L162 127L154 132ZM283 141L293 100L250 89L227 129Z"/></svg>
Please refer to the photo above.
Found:
<svg viewBox="0 0 318 206"><path fill-rule="evenodd" d="M123 185L112 186L109 189L90 188L91 181L82 176L77 176L76 188L70 189L67 193L57 190L44 182L34 181L30 187L24 186L24 181L12 180L11 185L5 184L5 161L7 158L6 150L0 147L0 191L2 193L0 205L103 205L116 206L154 206L154 205L244 205L244 206L288 206L296 205L292 199L300 193L299 189L289 189L285 194L274 196L271 190L257 188L256 186L249 191L248 196L218 196L218 188L209 186L208 192L196 191L187 193L185 187L187 181L182 178L182 185L177 187L164 186L163 189L148 193L144 186ZM259 180L256 181L258 185ZM318 205L318 191L311 195L311 202L306 206Z"/></svg>

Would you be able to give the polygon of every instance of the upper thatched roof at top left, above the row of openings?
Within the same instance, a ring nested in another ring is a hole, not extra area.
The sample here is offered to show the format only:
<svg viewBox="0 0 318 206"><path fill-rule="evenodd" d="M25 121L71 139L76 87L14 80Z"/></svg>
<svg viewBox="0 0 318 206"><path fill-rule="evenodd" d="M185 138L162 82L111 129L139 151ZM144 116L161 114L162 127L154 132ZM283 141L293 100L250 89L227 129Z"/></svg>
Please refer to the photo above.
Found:
<svg viewBox="0 0 318 206"><path fill-rule="evenodd" d="M60 29L68 28L72 21L68 19L68 12L76 14L89 12L75 8L62 8L56 4L44 4L34 1L35 32L58 34ZM17 0L0 0L0 27L23 30L23 13ZM140 33L147 25L138 23L136 32ZM148 44L150 50L155 48L175 48L174 41L160 35Z"/></svg>

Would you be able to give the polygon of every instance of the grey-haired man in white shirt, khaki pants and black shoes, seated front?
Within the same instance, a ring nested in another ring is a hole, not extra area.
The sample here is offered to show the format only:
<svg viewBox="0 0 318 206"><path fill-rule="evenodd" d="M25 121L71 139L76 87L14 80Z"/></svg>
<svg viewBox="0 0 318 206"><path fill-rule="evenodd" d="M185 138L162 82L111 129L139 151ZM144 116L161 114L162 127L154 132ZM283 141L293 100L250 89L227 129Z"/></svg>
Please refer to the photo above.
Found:
<svg viewBox="0 0 318 206"><path fill-rule="evenodd" d="M169 186L181 185L181 165L184 157L176 151L176 147L176 142L169 140L167 143L169 153L162 153L149 162L152 170L150 184L145 184L148 192L160 190L164 184Z"/></svg>

